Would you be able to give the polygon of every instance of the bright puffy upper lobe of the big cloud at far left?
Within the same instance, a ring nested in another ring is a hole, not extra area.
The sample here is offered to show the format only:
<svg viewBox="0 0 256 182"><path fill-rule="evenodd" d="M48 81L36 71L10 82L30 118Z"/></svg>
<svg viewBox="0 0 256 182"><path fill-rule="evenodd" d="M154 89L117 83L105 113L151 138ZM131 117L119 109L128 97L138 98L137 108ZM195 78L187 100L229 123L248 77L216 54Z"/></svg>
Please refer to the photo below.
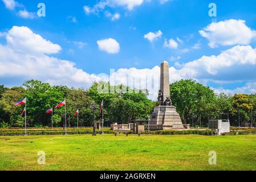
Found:
<svg viewBox="0 0 256 182"><path fill-rule="evenodd" d="M28 27L14 26L6 36L7 45L19 52L29 53L58 53L61 47L34 34Z"/></svg>

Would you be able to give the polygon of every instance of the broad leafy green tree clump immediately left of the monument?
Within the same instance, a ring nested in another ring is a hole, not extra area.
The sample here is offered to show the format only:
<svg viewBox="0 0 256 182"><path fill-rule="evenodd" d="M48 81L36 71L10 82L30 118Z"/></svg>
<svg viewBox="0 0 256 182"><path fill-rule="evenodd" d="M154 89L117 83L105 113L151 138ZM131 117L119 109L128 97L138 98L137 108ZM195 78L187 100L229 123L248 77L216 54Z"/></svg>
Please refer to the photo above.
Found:
<svg viewBox="0 0 256 182"><path fill-rule="evenodd" d="M99 86L102 86L99 92ZM109 90L115 91L109 93ZM122 90L121 98L117 98L119 91ZM147 98L144 90L131 89L124 85L110 85L108 83L95 83L88 90L88 95L100 105L104 100L104 118L111 122L128 123L132 119L146 119L152 113L152 101ZM97 115L100 119L100 116Z"/></svg>

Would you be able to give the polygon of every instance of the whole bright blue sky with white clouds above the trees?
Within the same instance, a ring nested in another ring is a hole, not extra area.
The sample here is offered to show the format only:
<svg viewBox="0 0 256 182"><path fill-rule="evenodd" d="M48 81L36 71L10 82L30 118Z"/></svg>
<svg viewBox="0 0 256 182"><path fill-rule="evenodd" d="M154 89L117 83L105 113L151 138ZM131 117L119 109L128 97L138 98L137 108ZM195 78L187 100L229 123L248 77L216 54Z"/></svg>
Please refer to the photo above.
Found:
<svg viewBox="0 0 256 182"><path fill-rule="evenodd" d="M158 76L165 60L171 82L256 93L253 0L44 0L45 17L38 3L0 0L0 84L33 78L88 88L110 69L126 84L127 76Z"/></svg>

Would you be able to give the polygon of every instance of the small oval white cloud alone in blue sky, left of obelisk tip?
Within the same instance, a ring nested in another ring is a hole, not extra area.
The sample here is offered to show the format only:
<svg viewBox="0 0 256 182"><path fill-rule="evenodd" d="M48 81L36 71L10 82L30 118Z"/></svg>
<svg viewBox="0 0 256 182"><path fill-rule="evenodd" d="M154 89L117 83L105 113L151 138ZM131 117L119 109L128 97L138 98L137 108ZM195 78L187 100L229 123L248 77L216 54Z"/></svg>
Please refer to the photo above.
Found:
<svg viewBox="0 0 256 182"><path fill-rule="evenodd" d="M120 51L119 43L112 38L98 40L97 45L101 51L105 51L107 53L114 54L119 53Z"/></svg>

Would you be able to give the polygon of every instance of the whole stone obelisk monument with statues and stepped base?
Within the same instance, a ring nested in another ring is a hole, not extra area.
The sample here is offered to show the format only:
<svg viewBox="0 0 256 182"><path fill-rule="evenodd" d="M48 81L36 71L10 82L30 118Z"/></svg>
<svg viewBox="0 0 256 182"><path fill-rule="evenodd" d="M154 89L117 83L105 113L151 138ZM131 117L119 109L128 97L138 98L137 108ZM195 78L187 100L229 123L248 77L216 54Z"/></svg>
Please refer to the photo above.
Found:
<svg viewBox="0 0 256 182"><path fill-rule="evenodd" d="M150 125L155 130L184 129L180 114L172 105L170 98L169 64L164 61L161 64L159 106L154 108L151 114Z"/></svg>

